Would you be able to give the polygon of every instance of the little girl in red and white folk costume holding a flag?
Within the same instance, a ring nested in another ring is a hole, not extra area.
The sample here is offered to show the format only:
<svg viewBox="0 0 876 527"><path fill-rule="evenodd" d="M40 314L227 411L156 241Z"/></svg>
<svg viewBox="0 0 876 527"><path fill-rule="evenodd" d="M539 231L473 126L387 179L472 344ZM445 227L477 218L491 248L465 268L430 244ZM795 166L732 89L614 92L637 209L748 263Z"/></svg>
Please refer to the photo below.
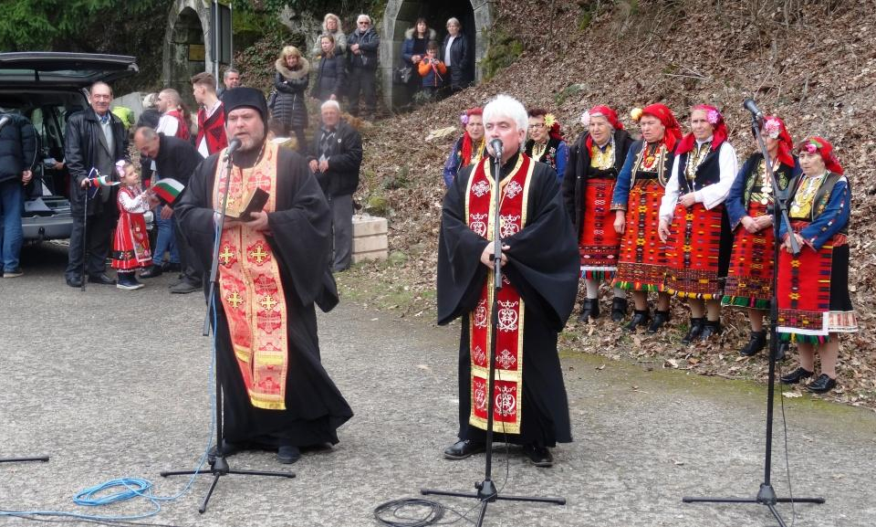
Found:
<svg viewBox="0 0 876 527"><path fill-rule="evenodd" d="M150 209L149 191L140 186L140 174L131 163L116 164L121 186L119 189L119 223L112 240L112 269L117 269L116 287L120 290L139 290L136 271L151 265L149 233L146 232L145 214Z"/></svg>

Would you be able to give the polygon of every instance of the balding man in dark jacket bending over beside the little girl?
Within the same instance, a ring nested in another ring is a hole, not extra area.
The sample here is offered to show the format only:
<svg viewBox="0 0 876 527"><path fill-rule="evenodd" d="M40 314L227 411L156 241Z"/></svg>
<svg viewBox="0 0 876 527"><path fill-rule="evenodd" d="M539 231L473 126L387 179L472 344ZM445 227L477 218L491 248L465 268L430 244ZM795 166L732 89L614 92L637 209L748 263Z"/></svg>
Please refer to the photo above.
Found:
<svg viewBox="0 0 876 527"><path fill-rule="evenodd" d="M203 161L203 157L195 150L191 142L178 137L168 137L145 126L134 132L134 146L140 151L141 156L155 162L156 180L171 177L187 186L194 169ZM173 216L173 206L162 206L157 211L157 214L160 214L164 219ZM174 221L173 226L176 247L180 248L180 266L183 274L180 281L171 286L171 292L191 293L201 289L203 270L196 267L197 258L192 252L192 247L183 237L179 224ZM163 257L163 255L156 255L156 257ZM152 265L151 268L141 273L140 278L155 278L160 276L162 272L161 265Z"/></svg>

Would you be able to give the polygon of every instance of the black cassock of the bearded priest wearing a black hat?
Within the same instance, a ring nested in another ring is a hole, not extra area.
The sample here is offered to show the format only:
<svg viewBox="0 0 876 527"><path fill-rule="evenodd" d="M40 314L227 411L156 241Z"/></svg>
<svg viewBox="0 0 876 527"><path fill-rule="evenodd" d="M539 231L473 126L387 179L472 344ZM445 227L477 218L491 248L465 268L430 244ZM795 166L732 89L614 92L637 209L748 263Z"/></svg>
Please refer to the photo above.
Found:
<svg viewBox="0 0 876 527"><path fill-rule="evenodd" d="M198 165L174 208L183 233L207 271L213 258L213 194L218 155ZM266 410L250 404L222 302L216 297L216 354L224 389L224 437L233 443L267 447L280 443L298 447L335 444L337 428L353 412L320 363L314 309L314 303L324 311L338 303L334 279L328 271L331 216L326 198L304 158L282 148L277 154L276 212L268 214L268 223L272 234L266 239L274 249L286 292L289 364L286 410Z"/></svg>

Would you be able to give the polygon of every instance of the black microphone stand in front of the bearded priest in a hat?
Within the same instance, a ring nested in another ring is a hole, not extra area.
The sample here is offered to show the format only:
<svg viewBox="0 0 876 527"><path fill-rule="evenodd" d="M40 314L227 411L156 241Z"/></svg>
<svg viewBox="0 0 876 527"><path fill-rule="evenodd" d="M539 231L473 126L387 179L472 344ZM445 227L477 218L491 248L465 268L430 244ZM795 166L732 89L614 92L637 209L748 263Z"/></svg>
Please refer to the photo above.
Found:
<svg viewBox="0 0 876 527"><path fill-rule="evenodd" d="M239 142L238 142L239 144ZM227 164L225 166L225 189L222 197L222 215L219 216L216 222L216 237L214 239L213 246L213 265L210 268L210 287L209 294L207 295L207 315L203 321L203 336L210 335L210 320L211 315L214 313L215 309L215 301L216 301L216 282L219 272L219 245L222 239L222 229L225 223L225 211L228 206L228 189L231 186L231 167L232 167L232 159L231 153L228 153L225 156L225 160ZM215 328L213 329L215 335ZM218 353L216 347L214 346L214 353ZM228 461L225 460L224 453L224 438L223 438L223 429L222 429L222 382L219 377L219 368L220 363L218 357L214 357L214 361L216 364L216 378L215 378L215 408L216 408L216 455L212 462L210 462L210 474L213 474L213 484L210 485L210 490L207 491L207 495L204 497L203 502L201 503L201 507L198 509L198 512L202 513L207 510L207 503L210 501L210 497L213 496L213 491L216 488L216 484L219 483L219 479L222 476L227 476L228 474L241 474L245 476L273 476L276 478L295 478L294 472L270 472L264 470L235 470L231 469L228 466ZM168 476L181 476L181 475L192 475L192 474L206 474L206 471L200 470L172 470L172 471L163 471L162 477Z"/></svg>

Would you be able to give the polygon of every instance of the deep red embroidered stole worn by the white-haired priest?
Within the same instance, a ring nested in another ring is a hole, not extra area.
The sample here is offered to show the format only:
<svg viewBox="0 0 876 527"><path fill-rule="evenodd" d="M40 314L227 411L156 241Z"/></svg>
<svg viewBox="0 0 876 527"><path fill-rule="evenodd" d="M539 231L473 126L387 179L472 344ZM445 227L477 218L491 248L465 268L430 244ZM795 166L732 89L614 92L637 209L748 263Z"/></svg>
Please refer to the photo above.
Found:
<svg viewBox="0 0 876 527"><path fill-rule="evenodd" d="M485 239L494 239L495 181L489 174L490 158L474 167L465 193L465 217L468 227ZM527 225L529 183L536 163L520 154L511 174L499 184L500 237L510 237ZM481 297L469 315L469 350L471 353L471 416L469 423L486 429L487 383L490 360L490 321L493 320L494 273L489 271L481 286ZM503 287L497 299L498 327L495 346L495 402L493 430L519 434L523 395L524 301L503 275Z"/></svg>

